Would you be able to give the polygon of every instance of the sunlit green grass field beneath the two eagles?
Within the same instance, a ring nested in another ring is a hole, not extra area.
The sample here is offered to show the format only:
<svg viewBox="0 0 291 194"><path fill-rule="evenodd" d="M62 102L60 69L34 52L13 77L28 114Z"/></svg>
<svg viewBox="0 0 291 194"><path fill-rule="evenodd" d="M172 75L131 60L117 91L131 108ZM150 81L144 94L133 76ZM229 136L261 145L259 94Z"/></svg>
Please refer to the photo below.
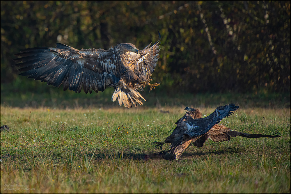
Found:
<svg viewBox="0 0 291 194"><path fill-rule="evenodd" d="M9 95L1 92L1 126L10 127L1 131L1 193L290 193L289 100L185 95L166 104L153 92L145 106L128 109L53 92L46 101ZM240 108L221 124L283 136L207 140L177 161L155 155L151 142L171 134L186 106L208 115L225 102Z"/></svg>

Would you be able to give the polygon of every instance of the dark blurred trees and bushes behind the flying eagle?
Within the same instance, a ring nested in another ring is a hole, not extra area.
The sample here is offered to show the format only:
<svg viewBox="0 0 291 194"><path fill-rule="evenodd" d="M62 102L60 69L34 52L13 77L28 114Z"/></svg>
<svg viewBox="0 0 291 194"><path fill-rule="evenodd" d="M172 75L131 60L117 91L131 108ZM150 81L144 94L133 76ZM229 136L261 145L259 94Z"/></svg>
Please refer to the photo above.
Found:
<svg viewBox="0 0 291 194"><path fill-rule="evenodd" d="M1 1L1 96L52 87L18 76L23 49L143 49L158 31L157 92L290 97L290 1Z"/></svg>

